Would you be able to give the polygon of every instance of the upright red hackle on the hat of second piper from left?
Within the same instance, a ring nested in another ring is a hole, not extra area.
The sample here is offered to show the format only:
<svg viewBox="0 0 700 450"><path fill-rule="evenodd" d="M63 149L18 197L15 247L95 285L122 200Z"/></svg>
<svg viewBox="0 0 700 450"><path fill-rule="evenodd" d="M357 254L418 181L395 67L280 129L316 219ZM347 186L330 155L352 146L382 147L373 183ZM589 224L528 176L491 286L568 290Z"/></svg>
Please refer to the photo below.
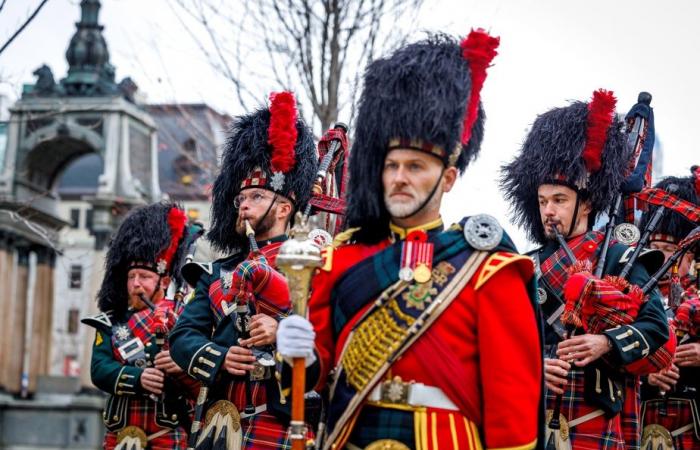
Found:
<svg viewBox="0 0 700 450"><path fill-rule="evenodd" d="M294 94L288 91L271 93L267 143L272 146L270 165L273 172L288 173L294 168L297 134L297 106Z"/></svg>

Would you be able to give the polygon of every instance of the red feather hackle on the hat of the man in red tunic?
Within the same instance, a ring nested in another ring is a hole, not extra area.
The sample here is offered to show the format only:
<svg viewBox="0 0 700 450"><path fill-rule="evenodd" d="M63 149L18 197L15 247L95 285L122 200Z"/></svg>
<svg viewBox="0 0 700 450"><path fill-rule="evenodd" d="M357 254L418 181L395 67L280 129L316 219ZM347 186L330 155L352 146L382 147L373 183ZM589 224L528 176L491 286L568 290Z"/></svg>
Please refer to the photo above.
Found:
<svg viewBox="0 0 700 450"><path fill-rule="evenodd" d="M490 36L485 30L478 28L472 30L466 39L462 40L462 57L469 63L472 77L472 88L469 93L469 102L464 114L462 128L462 145L467 145L472 135L472 126L479 113L479 100L481 88L486 80L486 69L498 52L496 49L500 43L499 37Z"/></svg>

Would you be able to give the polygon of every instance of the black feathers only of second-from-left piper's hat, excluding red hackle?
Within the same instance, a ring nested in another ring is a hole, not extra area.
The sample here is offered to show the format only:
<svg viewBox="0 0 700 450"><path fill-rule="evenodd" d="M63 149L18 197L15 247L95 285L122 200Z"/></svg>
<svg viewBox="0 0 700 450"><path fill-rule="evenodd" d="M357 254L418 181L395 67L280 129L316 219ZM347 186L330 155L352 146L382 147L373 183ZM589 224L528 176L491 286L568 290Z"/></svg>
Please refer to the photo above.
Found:
<svg viewBox="0 0 700 450"><path fill-rule="evenodd" d="M219 175L214 181L211 228L207 237L219 250L233 253L248 246L245 236L236 234L238 210L233 200L240 193L241 182L256 167L272 176L270 158L272 148L267 143L270 110L258 109L252 114L236 117L224 147ZM306 124L297 119L297 142L294 147L296 164L285 177L282 192L295 198L296 210L303 210L313 188L318 168L318 157L313 134ZM292 195L293 193L293 195Z"/></svg>

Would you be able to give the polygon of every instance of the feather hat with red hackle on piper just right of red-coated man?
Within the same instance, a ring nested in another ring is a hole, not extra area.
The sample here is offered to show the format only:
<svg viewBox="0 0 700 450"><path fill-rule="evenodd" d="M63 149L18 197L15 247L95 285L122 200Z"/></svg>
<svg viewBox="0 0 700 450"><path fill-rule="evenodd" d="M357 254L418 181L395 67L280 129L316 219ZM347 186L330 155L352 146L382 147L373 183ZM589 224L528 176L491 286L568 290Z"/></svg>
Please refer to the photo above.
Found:
<svg viewBox="0 0 700 450"><path fill-rule="evenodd" d="M591 202L590 222L607 211L628 170L631 152L624 122L611 92L599 90L590 103L573 102L537 117L518 156L502 168L501 189L516 223L544 244L537 189L562 184Z"/></svg>

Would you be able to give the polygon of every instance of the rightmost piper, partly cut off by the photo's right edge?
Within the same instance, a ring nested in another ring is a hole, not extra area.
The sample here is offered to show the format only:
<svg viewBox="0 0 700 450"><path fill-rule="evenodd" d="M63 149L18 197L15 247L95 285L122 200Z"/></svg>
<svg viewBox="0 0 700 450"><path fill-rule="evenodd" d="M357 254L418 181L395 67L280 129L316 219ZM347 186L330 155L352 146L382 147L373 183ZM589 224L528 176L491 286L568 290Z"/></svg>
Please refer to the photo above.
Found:
<svg viewBox="0 0 700 450"><path fill-rule="evenodd" d="M676 186L675 197L690 206L669 207L651 237L651 248L661 250L666 258L677 258L672 270L661 278L659 286L666 299L678 347L674 364L649 375L642 386L642 448L650 450L681 450L700 448L700 300L697 290L697 269L693 279L693 264L700 259L700 245L687 245L691 232L700 224L700 168L691 168L688 177L667 177L655 188L666 190ZM693 209L695 216L693 217ZM647 223L651 209L642 216ZM688 218L691 216L691 220ZM682 245L681 245L682 244ZM683 247L688 248L683 248ZM679 249L679 247L681 247Z"/></svg>

